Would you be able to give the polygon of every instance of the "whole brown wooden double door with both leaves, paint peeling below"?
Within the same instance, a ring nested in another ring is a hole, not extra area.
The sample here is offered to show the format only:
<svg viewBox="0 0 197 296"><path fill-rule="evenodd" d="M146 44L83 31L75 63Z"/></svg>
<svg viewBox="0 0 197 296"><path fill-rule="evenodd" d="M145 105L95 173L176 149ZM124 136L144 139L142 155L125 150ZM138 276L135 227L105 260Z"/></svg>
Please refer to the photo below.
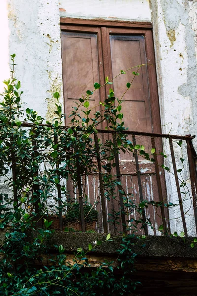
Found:
<svg viewBox="0 0 197 296"><path fill-rule="evenodd" d="M102 27L101 25L98 27L62 25L62 29L64 30L62 32L62 60L66 116L71 111L73 101L80 98L81 93L85 94L87 89L93 89L91 87L94 82L103 84L106 76L111 79L119 74L120 70L148 63L153 66L145 65L139 69L140 75L134 79L131 89L123 97L124 125L129 130L161 133L151 30ZM122 74L114 80L113 89L115 96L119 99L127 89L127 82L131 83L133 71L128 71L127 74ZM106 92L101 88L100 92L96 92L92 96L91 104L95 111L99 110L99 101L105 99L108 90L109 86L106 87ZM69 123L68 119L66 119L67 123ZM132 136L131 142L133 142ZM150 138L137 136L136 142L144 145L146 151L150 152L152 148ZM136 176L135 159L127 153L121 153L119 161L122 184L127 192L132 193L133 199L139 204L139 182ZM158 201L154 164L139 158L139 166L143 198ZM72 184L70 184L70 188L71 186ZM165 195L165 182L163 182L163 189ZM98 200L98 176L88 176L85 193L92 204ZM110 213L112 208L118 209L118 204L107 202L107 208ZM97 210L100 213L97 230L100 232L102 231L100 203L97 205ZM153 210L147 210L147 216L155 217L153 219L155 228L162 224L161 217Z"/></svg>

